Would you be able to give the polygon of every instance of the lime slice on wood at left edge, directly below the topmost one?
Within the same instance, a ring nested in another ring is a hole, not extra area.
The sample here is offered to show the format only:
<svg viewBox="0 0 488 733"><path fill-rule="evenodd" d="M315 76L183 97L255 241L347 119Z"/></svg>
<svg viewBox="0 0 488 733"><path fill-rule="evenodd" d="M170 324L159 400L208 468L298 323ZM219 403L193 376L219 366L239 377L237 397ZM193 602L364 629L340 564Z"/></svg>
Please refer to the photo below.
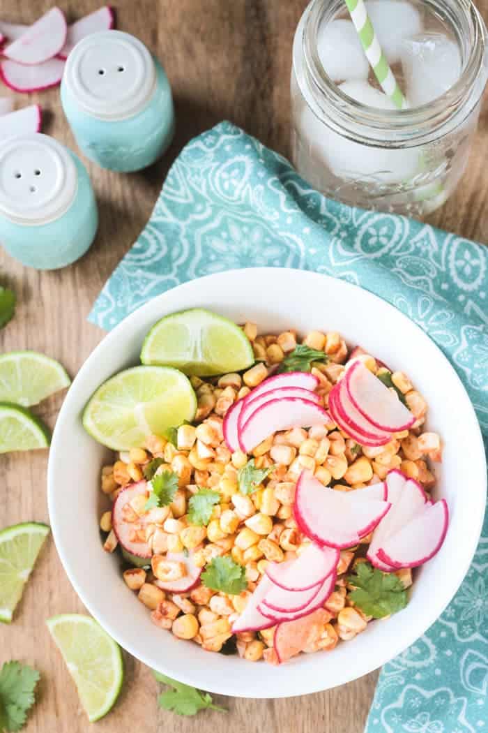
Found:
<svg viewBox="0 0 488 733"><path fill-rule="evenodd" d="M49 430L29 410L0 402L0 453L47 448Z"/></svg>

